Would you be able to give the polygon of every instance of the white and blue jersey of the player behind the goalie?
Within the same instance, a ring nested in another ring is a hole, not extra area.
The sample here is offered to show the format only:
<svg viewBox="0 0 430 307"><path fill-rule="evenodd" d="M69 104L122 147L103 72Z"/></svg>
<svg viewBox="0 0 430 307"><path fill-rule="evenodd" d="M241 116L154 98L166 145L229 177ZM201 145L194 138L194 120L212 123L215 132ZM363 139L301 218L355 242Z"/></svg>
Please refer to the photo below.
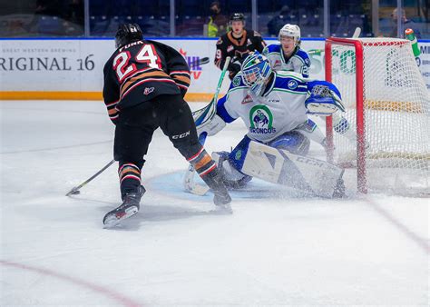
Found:
<svg viewBox="0 0 430 307"><path fill-rule="evenodd" d="M286 60L282 46L279 44L267 45L263 54L269 59L270 67L273 70L289 71L303 74L305 78L309 77L310 59L306 51L298 48L292 56Z"/></svg>

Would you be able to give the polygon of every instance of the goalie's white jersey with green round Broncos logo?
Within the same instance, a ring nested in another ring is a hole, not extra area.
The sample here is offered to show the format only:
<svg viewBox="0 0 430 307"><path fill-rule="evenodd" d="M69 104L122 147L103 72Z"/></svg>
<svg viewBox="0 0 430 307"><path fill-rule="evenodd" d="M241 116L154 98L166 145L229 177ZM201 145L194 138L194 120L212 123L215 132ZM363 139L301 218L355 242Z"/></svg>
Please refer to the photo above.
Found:
<svg viewBox="0 0 430 307"><path fill-rule="evenodd" d="M308 120L305 100L308 79L301 74L275 72L263 96L255 96L242 81L233 78L229 92L218 101L217 114L231 123L241 118L249 129L250 139L267 143L295 129Z"/></svg>

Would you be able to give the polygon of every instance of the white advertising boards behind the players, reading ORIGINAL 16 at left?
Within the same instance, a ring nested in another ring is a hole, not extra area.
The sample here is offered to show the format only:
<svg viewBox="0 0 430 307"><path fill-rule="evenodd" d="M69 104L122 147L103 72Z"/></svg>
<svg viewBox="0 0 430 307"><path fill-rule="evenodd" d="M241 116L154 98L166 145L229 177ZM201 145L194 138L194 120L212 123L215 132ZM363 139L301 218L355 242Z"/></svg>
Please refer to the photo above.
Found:
<svg viewBox="0 0 430 307"><path fill-rule="evenodd" d="M171 45L185 57L191 67L189 93L207 100L214 93L220 76L220 69L213 64L216 39L158 41ZM269 39L267 43L276 44L277 40ZM302 42L302 48L311 60L310 76L324 79L324 41L307 39ZM430 43L422 43L420 48L421 55L416 63L430 90ZM102 99L103 66L113 51L112 39L0 40L0 98L13 99L27 92L58 93L64 99L70 93L81 93L83 99L85 94L91 93L88 99ZM209 57L210 63L196 64L202 57ZM227 91L229 84L226 78L221 93Z"/></svg>

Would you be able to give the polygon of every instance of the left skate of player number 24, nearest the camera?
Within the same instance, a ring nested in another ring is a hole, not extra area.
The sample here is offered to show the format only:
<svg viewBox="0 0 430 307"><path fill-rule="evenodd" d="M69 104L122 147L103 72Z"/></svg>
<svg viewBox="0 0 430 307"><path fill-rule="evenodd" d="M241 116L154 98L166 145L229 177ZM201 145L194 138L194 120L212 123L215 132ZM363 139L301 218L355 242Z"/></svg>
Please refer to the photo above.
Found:
<svg viewBox="0 0 430 307"><path fill-rule="evenodd" d="M142 185L138 187L137 191L125 193L122 204L104 215L104 228L112 228L138 213L143 193L145 193L145 188Z"/></svg>

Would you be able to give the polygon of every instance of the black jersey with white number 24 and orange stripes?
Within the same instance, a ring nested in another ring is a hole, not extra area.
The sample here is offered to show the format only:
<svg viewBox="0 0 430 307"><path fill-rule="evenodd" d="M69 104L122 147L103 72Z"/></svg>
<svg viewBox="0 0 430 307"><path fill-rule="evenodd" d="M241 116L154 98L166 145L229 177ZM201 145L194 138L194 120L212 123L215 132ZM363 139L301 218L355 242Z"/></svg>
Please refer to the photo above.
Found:
<svg viewBox="0 0 430 307"><path fill-rule="evenodd" d="M124 108L160 94L187 93L190 68L171 48L142 40L118 48L104 65L103 99L112 122Z"/></svg>

